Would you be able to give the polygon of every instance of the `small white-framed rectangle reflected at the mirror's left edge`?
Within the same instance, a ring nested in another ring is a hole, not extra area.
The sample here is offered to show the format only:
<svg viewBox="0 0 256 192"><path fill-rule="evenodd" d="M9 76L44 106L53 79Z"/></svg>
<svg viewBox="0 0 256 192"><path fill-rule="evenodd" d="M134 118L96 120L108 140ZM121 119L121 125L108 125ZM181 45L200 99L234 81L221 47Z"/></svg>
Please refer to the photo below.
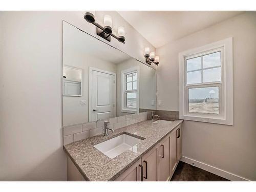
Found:
<svg viewBox="0 0 256 192"><path fill-rule="evenodd" d="M82 69L63 66L63 96L82 96Z"/></svg>

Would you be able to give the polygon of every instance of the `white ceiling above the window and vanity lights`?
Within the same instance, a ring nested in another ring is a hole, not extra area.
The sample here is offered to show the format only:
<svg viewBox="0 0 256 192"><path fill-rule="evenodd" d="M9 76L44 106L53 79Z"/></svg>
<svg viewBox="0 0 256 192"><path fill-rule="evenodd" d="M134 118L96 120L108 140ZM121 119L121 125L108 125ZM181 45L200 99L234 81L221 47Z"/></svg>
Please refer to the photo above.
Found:
<svg viewBox="0 0 256 192"><path fill-rule="evenodd" d="M155 48L243 11L117 11Z"/></svg>

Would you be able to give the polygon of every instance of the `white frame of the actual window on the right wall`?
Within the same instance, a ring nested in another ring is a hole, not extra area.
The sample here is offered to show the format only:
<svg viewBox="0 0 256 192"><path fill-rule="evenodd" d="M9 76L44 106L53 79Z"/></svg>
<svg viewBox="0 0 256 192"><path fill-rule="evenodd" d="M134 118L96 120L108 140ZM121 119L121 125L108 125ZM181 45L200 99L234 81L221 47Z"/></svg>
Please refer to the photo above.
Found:
<svg viewBox="0 0 256 192"><path fill-rule="evenodd" d="M186 84L186 59L218 51L221 51L221 81ZM200 87L219 87L219 114L188 112L188 89ZM232 37L179 53L179 99L180 119L233 125Z"/></svg>

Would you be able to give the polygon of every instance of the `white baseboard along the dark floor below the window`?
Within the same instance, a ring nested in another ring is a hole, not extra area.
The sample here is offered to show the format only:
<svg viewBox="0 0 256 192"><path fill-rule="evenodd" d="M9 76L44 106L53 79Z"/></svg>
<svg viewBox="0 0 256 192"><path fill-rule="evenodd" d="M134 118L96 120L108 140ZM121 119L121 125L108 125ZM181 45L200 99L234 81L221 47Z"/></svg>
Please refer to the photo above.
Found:
<svg viewBox="0 0 256 192"><path fill-rule="evenodd" d="M204 170L207 170L207 172L210 172L210 173L213 173L215 175L221 176L221 177L226 178L230 181L250 181L249 179L240 177L238 175L231 174L229 172L226 172L225 170L222 170L220 168L217 168L217 167L214 167L214 166L211 166L211 165L207 165L207 164L202 163L200 161L197 161L195 159L191 159L191 158L182 156L180 160L185 162L185 163L188 163L190 165L193 165L192 163L194 163L194 166L199 167L199 168L204 169Z"/></svg>

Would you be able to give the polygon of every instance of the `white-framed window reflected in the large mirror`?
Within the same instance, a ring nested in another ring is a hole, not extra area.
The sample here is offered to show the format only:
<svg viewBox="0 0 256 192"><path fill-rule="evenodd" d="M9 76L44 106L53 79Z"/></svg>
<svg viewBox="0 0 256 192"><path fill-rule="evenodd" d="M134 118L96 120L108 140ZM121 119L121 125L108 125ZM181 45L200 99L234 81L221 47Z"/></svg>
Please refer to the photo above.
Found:
<svg viewBox="0 0 256 192"><path fill-rule="evenodd" d="M138 110L138 74L139 68L134 67L121 71L122 76L122 112L137 113Z"/></svg>

